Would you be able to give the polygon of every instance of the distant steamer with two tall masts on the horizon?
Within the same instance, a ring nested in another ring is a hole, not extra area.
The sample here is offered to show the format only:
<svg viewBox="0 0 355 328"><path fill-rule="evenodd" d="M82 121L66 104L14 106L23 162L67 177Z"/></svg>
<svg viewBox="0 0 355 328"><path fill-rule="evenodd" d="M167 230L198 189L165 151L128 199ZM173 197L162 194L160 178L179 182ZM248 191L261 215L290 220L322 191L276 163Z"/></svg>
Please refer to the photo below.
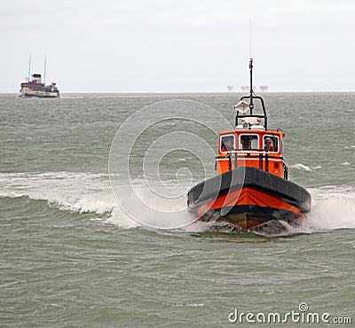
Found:
<svg viewBox="0 0 355 328"><path fill-rule="evenodd" d="M31 56L29 56L28 81L20 84L20 98L59 98L59 90L56 83L52 82L50 85L45 85L45 62L46 60L44 59L44 82L42 82L41 74L32 74L32 80L29 81L31 69Z"/></svg>

